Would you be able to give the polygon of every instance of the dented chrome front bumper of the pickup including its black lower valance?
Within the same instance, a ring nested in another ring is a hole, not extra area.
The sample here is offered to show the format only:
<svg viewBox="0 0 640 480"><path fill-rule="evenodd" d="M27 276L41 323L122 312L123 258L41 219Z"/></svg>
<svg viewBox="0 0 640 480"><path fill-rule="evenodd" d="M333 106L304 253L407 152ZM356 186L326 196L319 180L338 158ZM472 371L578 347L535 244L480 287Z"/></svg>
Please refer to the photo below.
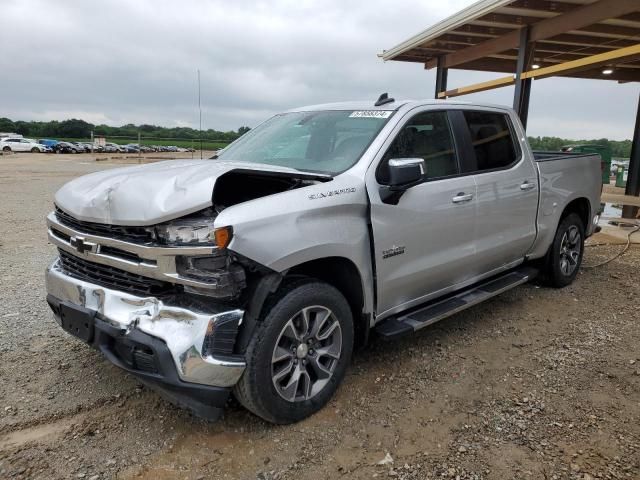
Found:
<svg viewBox="0 0 640 480"><path fill-rule="evenodd" d="M200 416L219 415L246 366L232 353L243 310L130 295L73 278L59 260L47 269L46 285L67 332L174 403Z"/></svg>

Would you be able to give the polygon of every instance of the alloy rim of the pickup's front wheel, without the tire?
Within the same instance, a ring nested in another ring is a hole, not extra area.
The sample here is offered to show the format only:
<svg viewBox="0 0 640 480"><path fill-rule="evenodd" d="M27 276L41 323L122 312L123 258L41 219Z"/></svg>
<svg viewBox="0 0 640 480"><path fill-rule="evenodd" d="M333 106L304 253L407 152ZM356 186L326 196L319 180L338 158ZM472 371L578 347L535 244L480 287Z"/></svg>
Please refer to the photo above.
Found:
<svg viewBox="0 0 640 480"><path fill-rule="evenodd" d="M271 381L288 402L315 397L329 383L342 354L342 328L327 307L297 312L284 325L271 355Z"/></svg>

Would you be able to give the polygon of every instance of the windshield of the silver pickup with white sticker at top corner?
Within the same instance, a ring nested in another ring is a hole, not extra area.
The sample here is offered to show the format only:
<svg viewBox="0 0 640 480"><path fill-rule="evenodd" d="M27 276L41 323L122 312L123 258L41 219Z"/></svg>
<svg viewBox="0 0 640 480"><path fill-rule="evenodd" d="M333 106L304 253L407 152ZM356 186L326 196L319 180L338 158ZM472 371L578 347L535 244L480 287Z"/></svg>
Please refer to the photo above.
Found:
<svg viewBox="0 0 640 480"><path fill-rule="evenodd" d="M392 114L390 110L283 113L245 133L218 158L340 173L360 159Z"/></svg>

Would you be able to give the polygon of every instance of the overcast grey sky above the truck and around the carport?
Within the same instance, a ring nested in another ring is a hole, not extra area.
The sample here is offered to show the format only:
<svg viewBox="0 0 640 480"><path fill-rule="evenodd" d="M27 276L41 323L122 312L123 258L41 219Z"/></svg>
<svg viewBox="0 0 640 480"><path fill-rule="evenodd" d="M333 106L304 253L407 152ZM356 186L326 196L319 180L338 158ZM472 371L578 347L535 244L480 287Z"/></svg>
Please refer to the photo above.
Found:
<svg viewBox="0 0 640 480"><path fill-rule="evenodd" d="M0 117L236 130L283 109L433 98L434 71L377 54L473 0L0 0ZM449 87L500 74L452 71ZM534 82L530 135L631 138L638 84ZM465 100L511 104L513 89Z"/></svg>

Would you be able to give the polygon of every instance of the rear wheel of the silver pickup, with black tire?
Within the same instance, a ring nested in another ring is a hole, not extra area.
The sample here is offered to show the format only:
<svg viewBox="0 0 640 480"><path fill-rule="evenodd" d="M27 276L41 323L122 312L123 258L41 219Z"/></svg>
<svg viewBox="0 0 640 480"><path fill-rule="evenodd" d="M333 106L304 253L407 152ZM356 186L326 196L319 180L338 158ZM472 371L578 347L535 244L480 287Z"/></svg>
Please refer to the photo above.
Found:
<svg viewBox="0 0 640 480"><path fill-rule="evenodd" d="M577 232L579 238L575 242L573 240L569 241L569 237L575 232ZM567 253L567 242L569 242L569 245L575 243L573 250L569 247L571 253ZM578 275L578 270L580 270L583 253L584 225L578 214L570 213L558 225L553 243L545 257L543 272L545 283L555 288L566 287L572 283L576 275Z"/></svg>

